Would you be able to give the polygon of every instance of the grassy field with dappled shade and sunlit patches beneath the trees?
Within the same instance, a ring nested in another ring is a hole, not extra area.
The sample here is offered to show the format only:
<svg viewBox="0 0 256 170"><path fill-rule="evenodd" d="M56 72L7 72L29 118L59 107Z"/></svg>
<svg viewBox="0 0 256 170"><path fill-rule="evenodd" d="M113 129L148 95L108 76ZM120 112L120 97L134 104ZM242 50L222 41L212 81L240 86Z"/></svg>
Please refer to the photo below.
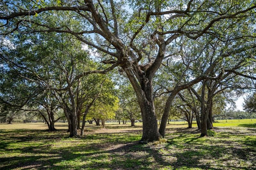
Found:
<svg viewBox="0 0 256 170"><path fill-rule="evenodd" d="M66 123L55 132L44 123L0 124L0 169L256 169L255 119L216 122L216 135L203 138L172 122L167 143L138 144L141 126L87 124L84 137L68 138Z"/></svg>

